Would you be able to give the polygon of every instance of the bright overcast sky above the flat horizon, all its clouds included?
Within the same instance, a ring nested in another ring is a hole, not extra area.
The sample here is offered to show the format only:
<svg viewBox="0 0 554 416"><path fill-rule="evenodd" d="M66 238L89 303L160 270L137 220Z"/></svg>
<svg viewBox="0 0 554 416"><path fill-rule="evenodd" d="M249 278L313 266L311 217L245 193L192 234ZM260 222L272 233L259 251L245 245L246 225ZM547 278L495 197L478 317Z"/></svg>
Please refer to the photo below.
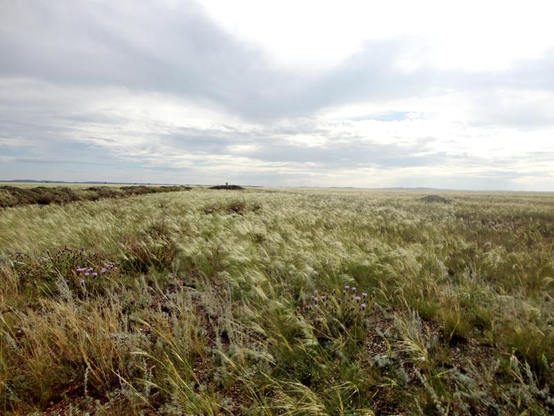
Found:
<svg viewBox="0 0 554 416"><path fill-rule="evenodd" d="M0 0L0 180L554 191L553 15Z"/></svg>

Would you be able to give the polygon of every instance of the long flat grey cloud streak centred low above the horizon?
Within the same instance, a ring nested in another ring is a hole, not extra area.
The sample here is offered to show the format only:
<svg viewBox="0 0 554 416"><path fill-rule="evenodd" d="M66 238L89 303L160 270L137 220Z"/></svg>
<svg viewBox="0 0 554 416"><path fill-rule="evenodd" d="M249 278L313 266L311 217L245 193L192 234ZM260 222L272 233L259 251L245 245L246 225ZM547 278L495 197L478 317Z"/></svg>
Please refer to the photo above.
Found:
<svg viewBox="0 0 554 416"><path fill-rule="evenodd" d="M301 125L298 129L304 134L310 130ZM258 132L234 130L179 129L175 134L163 137L161 141L174 149L176 153L186 151L196 155L235 155L258 159L262 162L283 162L312 164L313 168L354 168L354 167L409 167L433 166L444 164L452 159L465 159L465 155L449 155L445 152L434 152L431 144L435 139L422 137L410 146L398 144L379 144L364 137L352 135L334 136L330 132L317 129L312 135L323 135L324 145L306 146L290 144L286 140L275 139L275 132L281 128L267 128ZM249 146L234 150L235 146ZM424 155L420 153L427 152Z"/></svg>

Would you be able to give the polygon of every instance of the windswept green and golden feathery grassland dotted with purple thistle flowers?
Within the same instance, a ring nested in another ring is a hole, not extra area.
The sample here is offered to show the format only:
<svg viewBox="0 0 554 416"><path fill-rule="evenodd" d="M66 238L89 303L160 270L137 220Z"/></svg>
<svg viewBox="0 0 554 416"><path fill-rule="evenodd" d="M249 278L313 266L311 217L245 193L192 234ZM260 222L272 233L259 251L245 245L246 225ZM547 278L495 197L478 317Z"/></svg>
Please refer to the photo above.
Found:
<svg viewBox="0 0 554 416"><path fill-rule="evenodd" d="M0 413L554 413L554 195L422 196L1 209Z"/></svg>

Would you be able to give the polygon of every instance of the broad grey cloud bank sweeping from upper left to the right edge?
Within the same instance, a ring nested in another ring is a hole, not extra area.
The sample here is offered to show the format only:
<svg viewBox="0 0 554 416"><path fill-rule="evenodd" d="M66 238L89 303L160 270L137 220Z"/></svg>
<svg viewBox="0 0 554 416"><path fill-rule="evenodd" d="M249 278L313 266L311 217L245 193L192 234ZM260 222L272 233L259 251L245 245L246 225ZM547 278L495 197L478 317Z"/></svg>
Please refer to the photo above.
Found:
<svg viewBox="0 0 554 416"><path fill-rule="evenodd" d="M310 116L332 105L447 90L554 89L554 51L508 71L402 72L395 60L417 47L407 39L367 42L319 77L278 71L261 51L218 28L193 0L173 8L153 0L4 1L0 11L0 76L164 92L247 119ZM544 121L530 116L521 122Z"/></svg>

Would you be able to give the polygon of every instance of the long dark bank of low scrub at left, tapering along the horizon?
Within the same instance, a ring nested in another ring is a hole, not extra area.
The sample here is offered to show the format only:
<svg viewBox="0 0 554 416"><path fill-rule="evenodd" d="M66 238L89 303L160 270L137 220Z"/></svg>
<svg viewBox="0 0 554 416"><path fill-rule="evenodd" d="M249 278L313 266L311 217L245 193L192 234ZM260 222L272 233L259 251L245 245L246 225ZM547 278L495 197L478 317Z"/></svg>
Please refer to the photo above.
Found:
<svg viewBox="0 0 554 416"><path fill-rule="evenodd" d="M0 187L0 207L17 205L66 204L76 201L96 201L105 198L125 198L127 196L186 191L190 187L149 187L145 185L131 187Z"/></svg>

